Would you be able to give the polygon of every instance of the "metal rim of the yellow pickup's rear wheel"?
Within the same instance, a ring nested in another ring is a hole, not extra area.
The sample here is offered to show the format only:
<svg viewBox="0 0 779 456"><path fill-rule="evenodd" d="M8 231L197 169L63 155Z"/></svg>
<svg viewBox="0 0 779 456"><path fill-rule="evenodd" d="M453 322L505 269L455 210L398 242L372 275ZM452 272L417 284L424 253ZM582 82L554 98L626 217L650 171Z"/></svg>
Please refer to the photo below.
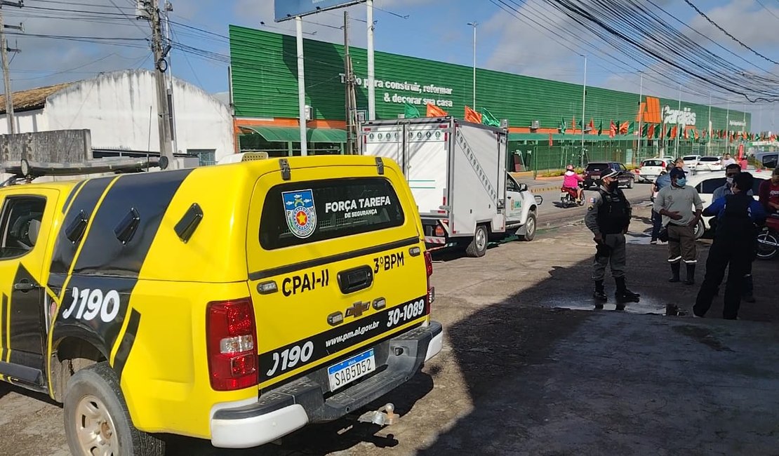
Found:
<svg viewBox="0 0 779 456"><path fill-rule="evenodd" d="M114 420L100 399L84 396L76 406L76 434L83 454L111 456L119 454Z"/></svg>

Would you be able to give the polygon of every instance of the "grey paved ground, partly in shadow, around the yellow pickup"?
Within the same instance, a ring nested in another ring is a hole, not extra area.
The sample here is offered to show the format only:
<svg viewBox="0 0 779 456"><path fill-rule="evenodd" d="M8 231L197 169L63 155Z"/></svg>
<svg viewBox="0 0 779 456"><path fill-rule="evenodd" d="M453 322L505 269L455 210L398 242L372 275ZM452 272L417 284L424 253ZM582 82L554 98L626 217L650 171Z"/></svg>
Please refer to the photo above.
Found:
<svg viewBox="0 0 779 456"><path fill-rule="evenodd" d="M371 405L393 402L399 423L340 419L243 451L165 437L167 454L775 456L779 261L756 262L757 303L744 303L739 321L718 318L721 296L707 318L663 316L668 303L689 308L698 287L666 281L667 247L649 244L648 216L636 205L627 277L641 302L626 312L612 300L593 310L594 247L581 223L493 244L484 258L440 251L432 317L444 325L442 353ZM698 243L699 283L709 244ZM0 435L2 456L69 454L62 409L6 384Z"/></svg>

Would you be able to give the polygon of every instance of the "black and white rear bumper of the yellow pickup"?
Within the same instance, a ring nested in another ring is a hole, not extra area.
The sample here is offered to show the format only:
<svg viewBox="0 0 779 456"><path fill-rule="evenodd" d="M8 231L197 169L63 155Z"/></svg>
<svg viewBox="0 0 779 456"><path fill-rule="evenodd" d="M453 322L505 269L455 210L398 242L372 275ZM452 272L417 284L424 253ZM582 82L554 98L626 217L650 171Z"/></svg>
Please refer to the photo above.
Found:
<svg viewBox="0 0 779 456"><path fill-rule="evenodd" d="M220 448L256 447L308 423L324 423L356 412L408 381L442 346L442 326L431 321L428 326L373 346L379 369L348 388L330 393L325 366L264 391L256 403L220 409L211 419L211 444Z"/></svg>

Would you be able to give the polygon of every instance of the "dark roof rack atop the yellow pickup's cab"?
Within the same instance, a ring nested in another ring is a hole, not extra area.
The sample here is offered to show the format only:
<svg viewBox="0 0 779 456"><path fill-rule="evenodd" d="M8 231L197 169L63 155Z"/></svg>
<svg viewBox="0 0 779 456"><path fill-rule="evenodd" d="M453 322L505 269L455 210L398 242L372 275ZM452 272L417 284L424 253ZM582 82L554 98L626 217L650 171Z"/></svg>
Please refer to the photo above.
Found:
<svg viewBox="0 0 779 456"><path fill-rule="evenodd" d="M49 163L49 162L30 162L26 159L19 160L17 163L0 163L0 172L12 174L9 179L2 183L2 187L18 184L18 181L32 182L37 177L44 176L79 176L83 174L125 174L141 173L150 168L167 168L168 160L166 156L149 157L149 159L137 158L103 158L84 162L73 163Z"/></svg>

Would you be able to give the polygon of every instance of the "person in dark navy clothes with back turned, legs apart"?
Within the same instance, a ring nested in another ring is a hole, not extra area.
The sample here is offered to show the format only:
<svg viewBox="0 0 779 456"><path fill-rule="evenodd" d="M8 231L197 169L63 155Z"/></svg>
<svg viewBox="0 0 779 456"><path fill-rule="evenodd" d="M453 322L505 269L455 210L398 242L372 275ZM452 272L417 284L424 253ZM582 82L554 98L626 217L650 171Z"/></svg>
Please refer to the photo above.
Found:
<svg viewBox="0 0 779 456"><path fill-rule="evenodd" d="M705 216L717 216L717 230L706 261L706 275L693 306L693 314L696 317L705 316L710 309L714 295L724 278L725 268L728 267L722 317L728 320L738 317L743 278L753 260L754 239L757 237L758 226L766 220L763 205L747 194L753 184L752 174L738 174L731 188L733 195L717 199L703 211Z"/></svg>

